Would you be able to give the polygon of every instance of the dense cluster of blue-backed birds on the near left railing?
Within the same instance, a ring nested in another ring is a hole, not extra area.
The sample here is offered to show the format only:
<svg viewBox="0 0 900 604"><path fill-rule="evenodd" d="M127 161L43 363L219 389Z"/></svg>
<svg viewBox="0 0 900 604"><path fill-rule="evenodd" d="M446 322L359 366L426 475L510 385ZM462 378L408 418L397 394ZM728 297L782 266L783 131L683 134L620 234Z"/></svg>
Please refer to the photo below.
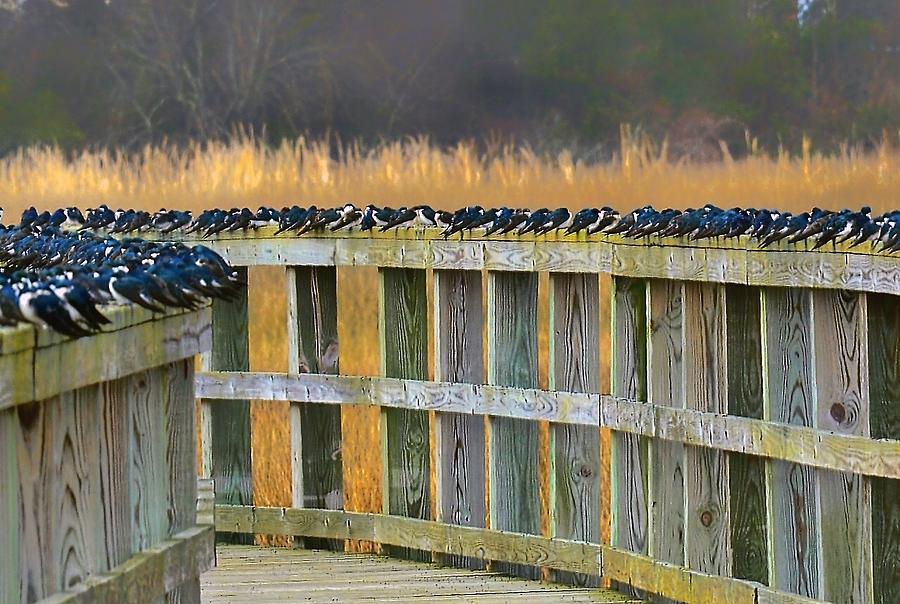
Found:
<svg viewBox="0 0 900 604"><path fill-rule="evenodd" d="M52 220L29 216L0 225L0 325L27 322L78 338L110 322L106 304L193 309L209 298L232 299L244 286L204 246L67 230L66 220L78 216L67 210Z"/></svg>

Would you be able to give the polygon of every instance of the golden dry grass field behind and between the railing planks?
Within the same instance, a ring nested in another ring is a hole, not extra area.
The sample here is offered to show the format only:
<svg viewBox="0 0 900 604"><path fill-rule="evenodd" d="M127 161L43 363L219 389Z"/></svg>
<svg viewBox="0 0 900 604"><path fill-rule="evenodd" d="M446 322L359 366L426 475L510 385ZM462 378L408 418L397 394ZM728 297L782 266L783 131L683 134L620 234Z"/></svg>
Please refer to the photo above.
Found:
<svg viewBox="0 0 900 604"><path fill-rule="evenodd" d="M350 145L338 157L325 142L298 140L267 148L252 139L209 143L187 150L147 148L125 156L111 151L67 156L52 148L27 149L0 159L0 205L7 221L29 205L41 208L99 203L157 209L267 204L328 206L353 201L384 205L430 203L454 208L482 205L645 203L684 207L714 202L796 210L813 205L875 211L900 207L900 150L881 145L864 154L843 149L822 155L805 145L798 156L756 151L718 163L673 162L666 146L623 129L613 161L587 165L565 153L541 157L528 149L500 148L479 155L472 145L438 149L424 140L385 143L371 150ZM285 277L281 268L250 275L251 368L284 371ZM376 274L339 272L341 369L378 371ZM547 283L541 287L546 317ZM540 337L541 384L547 381L547 327ZM259 505L290 504L290 450L286 404L253 406L254 493ZM348 508L380 511L377 410L344 412ZM365 462L365 463L364 463ZM544 489L546 492L546 489Z"/></svg>

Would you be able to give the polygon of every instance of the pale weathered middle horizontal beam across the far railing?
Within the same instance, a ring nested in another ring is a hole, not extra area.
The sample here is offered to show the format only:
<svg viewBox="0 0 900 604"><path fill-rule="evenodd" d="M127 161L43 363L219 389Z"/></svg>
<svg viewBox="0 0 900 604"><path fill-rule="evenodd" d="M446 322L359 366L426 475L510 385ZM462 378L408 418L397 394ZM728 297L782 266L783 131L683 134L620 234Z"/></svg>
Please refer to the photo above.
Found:
<svg viewBox="0 0 900 604"><path fill-rule="evenodd" d="M652 405L609 395L526 388L283 373L197 375L197 396L377 405L610 428L651 438L900 479L900 441Z"/></svg>

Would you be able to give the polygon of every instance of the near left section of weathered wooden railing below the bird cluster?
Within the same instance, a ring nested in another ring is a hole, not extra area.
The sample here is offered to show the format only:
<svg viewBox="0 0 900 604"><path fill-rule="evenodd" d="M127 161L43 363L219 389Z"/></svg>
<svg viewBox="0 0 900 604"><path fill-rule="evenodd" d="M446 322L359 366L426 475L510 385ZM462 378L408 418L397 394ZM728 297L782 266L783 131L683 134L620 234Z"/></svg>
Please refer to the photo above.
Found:
<svg viewBox="0 0 900 604"><path fill-rule="evenodd" d="M107 314L78 340L0 329L0 602L199 602L215 552L193 357L210 310Z"/></svg>

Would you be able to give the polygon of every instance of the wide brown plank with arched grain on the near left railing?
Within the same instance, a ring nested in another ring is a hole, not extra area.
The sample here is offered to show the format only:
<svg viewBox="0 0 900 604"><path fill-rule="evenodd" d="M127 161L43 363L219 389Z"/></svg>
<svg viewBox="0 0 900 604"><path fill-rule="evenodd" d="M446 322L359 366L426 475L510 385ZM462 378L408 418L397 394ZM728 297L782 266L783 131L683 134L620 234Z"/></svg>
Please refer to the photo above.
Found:
<svg viewBox="0 0 900 604"><path fill-rule="evenodd" d="M106 569L97 389L88 390L18 408L19 593L24 601L50 596Z"/></svg>

